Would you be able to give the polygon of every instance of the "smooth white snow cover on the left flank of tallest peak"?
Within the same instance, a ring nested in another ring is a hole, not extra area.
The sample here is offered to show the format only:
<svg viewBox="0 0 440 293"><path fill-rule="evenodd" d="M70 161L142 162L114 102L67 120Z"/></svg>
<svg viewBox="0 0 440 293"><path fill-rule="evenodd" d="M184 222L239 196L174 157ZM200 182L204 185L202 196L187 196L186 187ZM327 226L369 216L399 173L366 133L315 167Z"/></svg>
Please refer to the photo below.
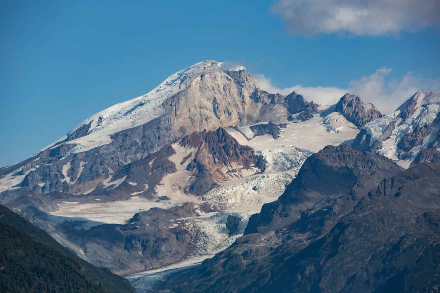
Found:
<svg viewBox="0 0 440 293"><path fill-rule="evenodd" d="M162 116L164 109L161 105L173 95L187 89L191 82L206 70L240 71L245 70L245 67L236 65L229 68L224 66L224 62L214 60L198 62L173 73L147 94L118 103L84 119L70 130L66 137L62 137L38 152L66 141L70 144L77 144L74 152L83 152L108 144L112 134L148 123Z"/></svg>

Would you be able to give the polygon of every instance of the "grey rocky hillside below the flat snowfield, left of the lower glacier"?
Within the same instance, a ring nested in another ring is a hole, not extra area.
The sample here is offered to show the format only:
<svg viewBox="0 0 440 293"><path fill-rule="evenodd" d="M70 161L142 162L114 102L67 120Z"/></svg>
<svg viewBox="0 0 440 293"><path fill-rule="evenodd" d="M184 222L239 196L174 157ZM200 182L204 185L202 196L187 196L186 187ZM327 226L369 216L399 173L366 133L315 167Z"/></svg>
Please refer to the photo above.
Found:
<svg viewBox="0 0 440 293"><path fill-rule="evenodd" d="M136 213L127 224L106 224L70 232L69 240L81 248L92 264L118 274L158 268L194 250L190 242L197 231L173 227L180 218L196 215L194 207L185 203L167 210L151 208ZM64 229L69 229L68 222Z"/></svg>

